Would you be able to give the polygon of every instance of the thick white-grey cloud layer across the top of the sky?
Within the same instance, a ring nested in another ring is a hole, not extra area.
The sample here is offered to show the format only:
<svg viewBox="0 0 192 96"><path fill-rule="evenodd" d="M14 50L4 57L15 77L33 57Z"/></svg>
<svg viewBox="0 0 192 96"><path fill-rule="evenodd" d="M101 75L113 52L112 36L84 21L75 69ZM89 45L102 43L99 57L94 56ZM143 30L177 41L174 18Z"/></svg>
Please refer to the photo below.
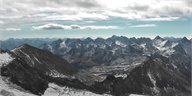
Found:
<svg viewBox="0 0 192 96"><path fill-rule="evenodd" d="M192 16L189 0L1 0L0 20L38 17L39 20L169 21ZM158 19L150 19L158 18ZM162 19L161 19L162 18Z"/></svg>

